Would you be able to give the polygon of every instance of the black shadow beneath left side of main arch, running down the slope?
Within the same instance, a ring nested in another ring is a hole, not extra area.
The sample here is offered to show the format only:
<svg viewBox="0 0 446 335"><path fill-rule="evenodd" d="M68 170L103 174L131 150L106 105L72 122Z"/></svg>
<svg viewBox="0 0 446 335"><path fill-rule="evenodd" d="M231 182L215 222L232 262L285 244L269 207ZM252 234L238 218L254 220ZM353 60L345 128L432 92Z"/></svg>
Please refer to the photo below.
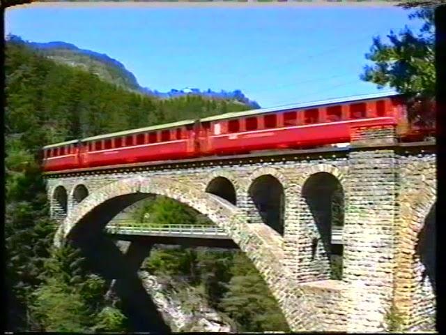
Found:
<svg viewBox="0 0 446 335"><path fill-rule="evenodd" d="M132 332L170 333L171 329L157 311L137 274L137 253L124 255L103 232L105 225L130 204L151 196L134 193L110 199L86 214L68 234L79 247L90 269L107 281L114 281L114 292L121 299L122 311L129 320ZM147 246L147 251L151 246ZM134 261L134 258L137 261ZM133 259L132 259L133 258ZM141 262L144 257L141 256ZM137 264L139 262L139 264Z"/></svg>

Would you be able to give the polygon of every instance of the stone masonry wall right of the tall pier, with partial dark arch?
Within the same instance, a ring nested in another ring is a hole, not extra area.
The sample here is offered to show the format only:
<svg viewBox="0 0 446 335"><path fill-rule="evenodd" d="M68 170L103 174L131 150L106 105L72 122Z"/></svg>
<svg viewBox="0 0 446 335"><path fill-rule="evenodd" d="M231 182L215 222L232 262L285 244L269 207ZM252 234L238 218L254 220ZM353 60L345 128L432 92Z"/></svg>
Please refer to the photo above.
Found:
<svg viewBox="0 0 446 335"><path fill-rule="evenodd" d="M397 203L401 216L397 238L397 264L394 303L403 315L405 327L412 331L435 327L436 295L432 281L435 258L422 260L417 252L420 232L429 224L426 216L433 213L435 226L436 156L407 154L399 156L400 195ZM435 234L428 230L427 234ZM424 248L435 255L435 236L429 235ZM431 269L426 269L426 267ZM427 275L425 275L427 272Z"/></svg>

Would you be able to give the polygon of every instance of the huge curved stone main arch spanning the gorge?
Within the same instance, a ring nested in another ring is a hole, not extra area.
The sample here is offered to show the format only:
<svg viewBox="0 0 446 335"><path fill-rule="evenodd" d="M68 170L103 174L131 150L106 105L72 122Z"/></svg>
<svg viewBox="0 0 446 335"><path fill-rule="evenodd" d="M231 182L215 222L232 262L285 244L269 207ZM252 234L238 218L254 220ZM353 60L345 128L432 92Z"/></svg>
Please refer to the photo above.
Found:
<svg viewBox="0 0 446 335"><path fill-rule="evenodd" d="M318 327L320 315L316 301L291 278L289 269L280 261L284 259L282 247L270 238L270 231L264 230L263 225L247 223L243 211L230 202L177 181L162 177L133 177L102 186L70 211L55 234L54 244L60 246L82 226L84 232L101 230L115 215L101 209L120 211L121 207L153 194L183 202L223 228L259 270L292 330ZM120 203L121 207L118 207ZM86 224L93 220L95 225Z"/></svg>

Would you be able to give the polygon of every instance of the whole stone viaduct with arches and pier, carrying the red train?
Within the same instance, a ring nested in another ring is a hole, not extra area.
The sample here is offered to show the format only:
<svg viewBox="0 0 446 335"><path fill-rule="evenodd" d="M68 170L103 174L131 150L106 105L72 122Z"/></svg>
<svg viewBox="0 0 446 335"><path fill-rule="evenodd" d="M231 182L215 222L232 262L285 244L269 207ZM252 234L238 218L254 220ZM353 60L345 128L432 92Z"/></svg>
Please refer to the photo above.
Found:
<svg viewBox="0 0 446 335"><path fill-rule="evenodd" d="M47 174L55 243L100 234L125 207L164 195L224 228L293 331L385 332L392 307L405 329L426 329L436 311L436 147L396 138L392 127L355 128L345 148ZM334 215L336 192L344 213ZM334 216L344 225L337 249Z"/></svg>

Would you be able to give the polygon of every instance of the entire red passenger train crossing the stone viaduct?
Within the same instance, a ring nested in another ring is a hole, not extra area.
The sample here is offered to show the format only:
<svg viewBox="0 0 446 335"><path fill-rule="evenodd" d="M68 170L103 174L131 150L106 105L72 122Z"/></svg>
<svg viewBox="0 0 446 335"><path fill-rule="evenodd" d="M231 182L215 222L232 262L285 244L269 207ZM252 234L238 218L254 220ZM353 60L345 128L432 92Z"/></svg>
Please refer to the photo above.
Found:
<svg viewBox="0 0 446 335"><path fill-rule="evenodd" d="M424 131L407 125L399 95L363 96L282 108L233 112L86 137L43 148L45 171L76 170L208 155L245 154L265 149L314 147L350 141L351 126L398 125L401 137L417 140Z"/></svg>

